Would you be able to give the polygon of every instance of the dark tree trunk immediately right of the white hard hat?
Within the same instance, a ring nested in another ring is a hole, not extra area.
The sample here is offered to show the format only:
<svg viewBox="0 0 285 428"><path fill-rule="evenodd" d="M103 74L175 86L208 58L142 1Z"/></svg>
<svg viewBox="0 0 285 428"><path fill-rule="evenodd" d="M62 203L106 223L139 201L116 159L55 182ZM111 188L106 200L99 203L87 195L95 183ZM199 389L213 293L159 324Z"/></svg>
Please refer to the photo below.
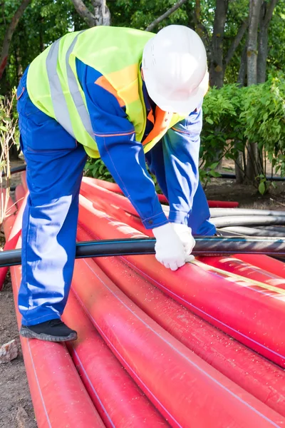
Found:
<svg viewBox="0 0 285 428"><path fill-rule="evenodd" d="M223 44L228 6L228 0L217 0L214 13L209 81L211 86L217 86L217 88L222 88L224 84Z"/></svg>

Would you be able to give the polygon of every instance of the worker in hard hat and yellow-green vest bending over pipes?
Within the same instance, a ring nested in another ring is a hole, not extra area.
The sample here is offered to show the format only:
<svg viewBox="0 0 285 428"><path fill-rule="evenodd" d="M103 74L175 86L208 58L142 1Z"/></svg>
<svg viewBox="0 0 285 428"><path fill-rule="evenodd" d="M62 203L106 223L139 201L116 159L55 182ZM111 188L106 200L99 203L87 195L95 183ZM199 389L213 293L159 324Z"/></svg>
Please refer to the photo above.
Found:
<svg viewBox="0 0 285 428"><path fill-rule="evenodd" d="M101 158L156 238L157 260L185 264L193 235L214 235L199 185L207 55L186 26L157 34L98 26L68 33L28 66L17 89L29 190L22 228L20 334L76 340L61 321L76 253L87 156ZM170 203L167 218L151 173Z"/></svg>

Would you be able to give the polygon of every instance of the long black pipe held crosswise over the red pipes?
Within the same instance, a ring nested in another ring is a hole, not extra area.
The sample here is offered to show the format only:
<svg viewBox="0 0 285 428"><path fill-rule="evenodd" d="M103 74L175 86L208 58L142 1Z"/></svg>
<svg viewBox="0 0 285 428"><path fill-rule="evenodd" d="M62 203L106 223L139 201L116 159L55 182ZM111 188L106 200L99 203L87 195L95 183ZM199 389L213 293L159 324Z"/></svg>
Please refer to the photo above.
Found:
<svg viewBox="0 0 285 428"><path fill-rule="evenodd" d="M285 255L285 239L196 236L194 255L266 254ZM155 239L86 241L76 244L76 258L143 255L155 253ZM0 252L0 267L21 265L21 249Z"/></svg>

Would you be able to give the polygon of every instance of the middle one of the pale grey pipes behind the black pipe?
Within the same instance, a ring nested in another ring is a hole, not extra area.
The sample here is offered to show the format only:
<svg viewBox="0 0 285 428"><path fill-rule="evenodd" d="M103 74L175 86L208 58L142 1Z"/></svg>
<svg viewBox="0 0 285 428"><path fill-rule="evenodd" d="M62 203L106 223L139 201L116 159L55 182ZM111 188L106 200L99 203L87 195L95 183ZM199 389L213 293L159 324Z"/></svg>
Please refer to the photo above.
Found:
<svg viewBox="0 0 285 428"><path fill-rule="evenodd" d="M216 228L227 226L251 226L251 225L285 225L285 216L274 215L232 215L230 217L212 218Z"/></svg>

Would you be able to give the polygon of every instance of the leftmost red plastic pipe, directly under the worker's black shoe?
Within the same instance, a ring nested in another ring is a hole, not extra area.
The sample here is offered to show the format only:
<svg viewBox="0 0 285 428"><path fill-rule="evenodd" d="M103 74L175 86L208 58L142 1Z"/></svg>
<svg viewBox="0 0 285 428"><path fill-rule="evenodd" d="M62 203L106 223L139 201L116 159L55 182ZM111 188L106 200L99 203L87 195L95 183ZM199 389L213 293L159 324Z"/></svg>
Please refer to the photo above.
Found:
<svg viewBox="0 0 285 428"><path fill-rule="evenodd" d="M9 224L4 224L7 233ZM17 248L21 247L21 239ZM21 325L17 296L21 267L11 267L16 316ZM59 343L21 337L28 385L38 428L103 428L93 403L76 372L66 347Z"/></svg>

